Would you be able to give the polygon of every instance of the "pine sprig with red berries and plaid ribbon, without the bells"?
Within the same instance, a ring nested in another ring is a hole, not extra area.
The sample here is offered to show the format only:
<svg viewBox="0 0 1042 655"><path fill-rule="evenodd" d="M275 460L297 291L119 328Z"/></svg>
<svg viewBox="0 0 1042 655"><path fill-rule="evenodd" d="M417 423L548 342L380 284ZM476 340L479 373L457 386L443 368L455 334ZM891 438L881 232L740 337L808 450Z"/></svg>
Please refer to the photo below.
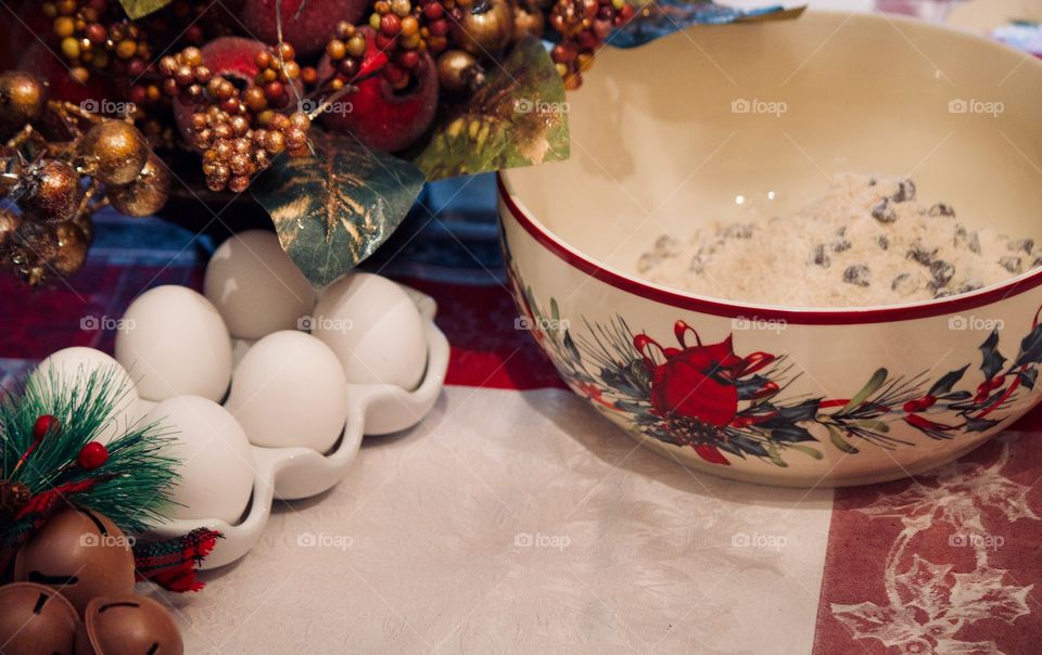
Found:
<svg viewBox="0 0 1042 655"><path fill-rule="evenodd" d="M119 425L117 408L127 393L116 372L105 369L72 377L38 371L20 389L5 391L0 579L49 521L69 508L103 517L111 534L139 535L164 522L178 481L171 437L158 424ZM195 565L217 538L196 532L163 543L128 539L135 555L129 571L176 591L200 589Z"/></svg>

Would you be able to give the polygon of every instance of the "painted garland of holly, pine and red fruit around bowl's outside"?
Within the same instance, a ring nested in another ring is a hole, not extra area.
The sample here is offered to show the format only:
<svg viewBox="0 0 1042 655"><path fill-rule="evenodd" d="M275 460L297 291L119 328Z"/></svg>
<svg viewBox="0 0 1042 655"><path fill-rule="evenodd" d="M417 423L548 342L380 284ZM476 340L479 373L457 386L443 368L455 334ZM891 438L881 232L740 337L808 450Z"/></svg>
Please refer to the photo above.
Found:
<svg viewBox="0 0 1042 655"><path fill-rule="evenodd" d="M830 448L857 454L915 447L895 425L933 440L983 433L1035 387L1042 362L1037 311L1014 358L1003 355L992 329L976 361L943 374L894 375L880 367L844 398L795 394L801 372L788 356L736 352L734 334L703 343L683 320L671 326L676 343L665 345L647 331L634 333L622 317L608 324L582 320L573 331L556 299L548 310L538 305L512 259L508 270L522 324L573 390L631 429L719 466L759 459L787 467L789 458L821 460ZM976 386L966 381L971 367L983 375Z"/></svg>

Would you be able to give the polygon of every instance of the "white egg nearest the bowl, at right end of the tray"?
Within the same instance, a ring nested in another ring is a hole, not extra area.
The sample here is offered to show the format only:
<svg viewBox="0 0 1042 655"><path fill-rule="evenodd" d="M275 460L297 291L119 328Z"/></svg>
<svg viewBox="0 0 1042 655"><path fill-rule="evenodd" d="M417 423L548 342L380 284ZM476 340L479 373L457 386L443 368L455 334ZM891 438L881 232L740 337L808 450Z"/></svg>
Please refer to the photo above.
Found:
<svg viewBox="0 0 1042 655"><path fill-rule="evenodd" d="M327 286L312 317L312 334L340 358L347 382L415 389L427 368L423 319L401 286L354 273Z"/></svg>

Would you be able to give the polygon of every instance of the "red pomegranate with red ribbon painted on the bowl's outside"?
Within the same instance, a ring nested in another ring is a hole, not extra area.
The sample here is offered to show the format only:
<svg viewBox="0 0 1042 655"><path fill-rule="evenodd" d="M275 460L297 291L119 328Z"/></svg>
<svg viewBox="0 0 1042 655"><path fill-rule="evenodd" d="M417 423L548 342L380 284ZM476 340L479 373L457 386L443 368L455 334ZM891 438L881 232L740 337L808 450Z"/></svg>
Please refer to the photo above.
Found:
<svg viewBox="0 0 1042 655"><path fill-rule="evenodd" d="M719 344L703 344L694 328L677 321L673 333L679 348L663 348L647 334L633 337L650 376L650 402L665 426L698 454L714 464L729 464L714 442L726 440L725 428L738 414L738 383L775 361L767 352L735 355L732 336ZM688 333L695 345L687 344ZM659 357L653 356L658 349ZM766 383L773 393L777 386ZM755 396L760 396L757 394Z"/></svg>

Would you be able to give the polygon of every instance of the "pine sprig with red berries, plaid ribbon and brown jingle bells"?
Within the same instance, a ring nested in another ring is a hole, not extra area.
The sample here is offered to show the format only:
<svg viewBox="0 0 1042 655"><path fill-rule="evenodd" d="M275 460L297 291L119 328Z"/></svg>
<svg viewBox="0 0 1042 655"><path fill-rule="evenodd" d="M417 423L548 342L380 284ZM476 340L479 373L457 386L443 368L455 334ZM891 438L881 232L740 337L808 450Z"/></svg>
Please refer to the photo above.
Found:
<svg viewBox="0 0 1042 655"><path fill-rule="evenodd" d="M0 643L5 653L180 652L151 580L194 591L218 534L164 541L145 531L173 506L178 462L154 423L120 425L116 369L38 370L0 400ZM118 611L106 614L110 609ZM126 640L130 640L127 642ZM130 644L130 645L128 645Z"/></svg>

